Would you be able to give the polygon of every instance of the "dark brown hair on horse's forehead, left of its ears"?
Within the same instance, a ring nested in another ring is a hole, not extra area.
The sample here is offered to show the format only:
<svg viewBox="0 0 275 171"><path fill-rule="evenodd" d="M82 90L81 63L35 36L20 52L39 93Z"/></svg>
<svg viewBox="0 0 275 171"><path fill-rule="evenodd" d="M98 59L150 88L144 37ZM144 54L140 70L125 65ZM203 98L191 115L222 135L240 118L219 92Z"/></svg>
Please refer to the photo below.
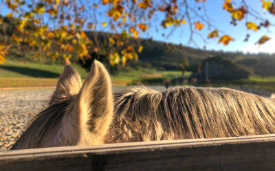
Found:
<svg viewBox="0 0 275 171"><path fill-rule="evenodd" d="M11 150L14 148L23 148L23 146L25 146L25 148L39 148L41 140L61 122L67 107L72 101L74 101L74 96L52 99L50 107L34 117L28 129L21 135L20 139L12 145ZM30 142L28 139L34 140L34 142Z"/></svg>

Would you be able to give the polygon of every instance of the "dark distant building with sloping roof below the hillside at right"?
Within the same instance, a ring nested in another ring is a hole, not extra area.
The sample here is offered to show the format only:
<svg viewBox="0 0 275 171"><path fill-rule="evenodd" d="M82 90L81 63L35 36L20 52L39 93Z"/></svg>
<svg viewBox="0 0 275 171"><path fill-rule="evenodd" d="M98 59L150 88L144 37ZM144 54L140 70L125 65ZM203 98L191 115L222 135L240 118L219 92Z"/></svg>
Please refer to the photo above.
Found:
<svg viewBox="0 0 275 171"><path fill-rule="evenodd" d="M203 61L201 73L194 72L191 77L198 79L246 79L250 73L222 57L209 57Z"/></svg>

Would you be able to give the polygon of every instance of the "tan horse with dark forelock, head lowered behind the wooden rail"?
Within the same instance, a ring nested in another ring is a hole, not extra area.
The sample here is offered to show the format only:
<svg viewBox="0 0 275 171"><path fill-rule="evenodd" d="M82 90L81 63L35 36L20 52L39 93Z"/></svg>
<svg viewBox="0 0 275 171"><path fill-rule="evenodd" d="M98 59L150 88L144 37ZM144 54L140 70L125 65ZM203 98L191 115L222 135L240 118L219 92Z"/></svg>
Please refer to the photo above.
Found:
<svg viewBox="0 0 275 171"><path fill-rule="evenodd" d="M229 88L144 86L112 92L107 69L94 61L84 83L65 66L49 107L12 149L234 137L275 133L275 102Z"/></svg>

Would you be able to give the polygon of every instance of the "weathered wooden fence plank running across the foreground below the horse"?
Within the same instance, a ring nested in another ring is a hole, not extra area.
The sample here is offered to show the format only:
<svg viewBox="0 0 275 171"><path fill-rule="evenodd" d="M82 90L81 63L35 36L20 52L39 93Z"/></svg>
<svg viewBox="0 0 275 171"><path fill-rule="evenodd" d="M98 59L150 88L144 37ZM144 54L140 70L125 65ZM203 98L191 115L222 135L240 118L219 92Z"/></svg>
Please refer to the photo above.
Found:
<svg viewBox="0 0 275 171"><path fill-rule="evenodd" d="M275 135L13 150L0 170L274 170Z"/></svg>

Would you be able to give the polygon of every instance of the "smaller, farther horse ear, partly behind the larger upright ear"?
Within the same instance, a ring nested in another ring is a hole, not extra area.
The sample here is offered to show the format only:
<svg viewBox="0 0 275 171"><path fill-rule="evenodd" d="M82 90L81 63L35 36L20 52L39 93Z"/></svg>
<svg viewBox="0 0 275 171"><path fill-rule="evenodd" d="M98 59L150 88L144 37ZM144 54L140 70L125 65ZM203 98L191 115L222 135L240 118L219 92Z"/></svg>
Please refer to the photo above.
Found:
<svg viewBox="0 0 275 171"><path fill-rule="evenodd" d="M49 105L52 105L57 98L63 98L72 94L78 94L82 86L80 75L72 66L66 65L59 77L56 90L52 94Z"/></svg>

